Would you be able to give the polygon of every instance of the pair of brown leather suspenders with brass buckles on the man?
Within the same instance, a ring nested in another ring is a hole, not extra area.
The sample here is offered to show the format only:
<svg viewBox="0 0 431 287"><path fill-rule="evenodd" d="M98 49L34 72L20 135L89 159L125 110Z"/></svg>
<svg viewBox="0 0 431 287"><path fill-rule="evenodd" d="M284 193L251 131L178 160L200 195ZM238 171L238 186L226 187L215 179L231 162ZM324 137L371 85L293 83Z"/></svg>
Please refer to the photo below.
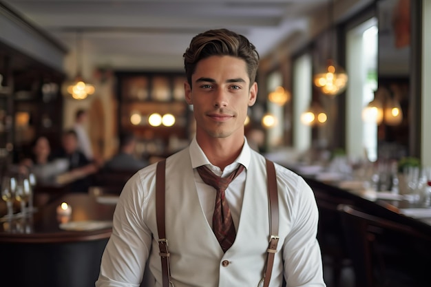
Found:
<svg viewBox="0 0 431 287"><path fill-rule="evenodd" d="M162 286L169 287L171 282L171 270L169 262L169 250L165 232L165 166L166 160L161 160L157 163L156 168L156 220L158 230L158 248L159 255L162 261ZM274 163L266 159L266 174L268 180L268 197L270 222L269 228L271 236L269 237L269 246L264 268L263 286L268 287L271 280L273 270L274 257L277 253L277 244L280 239L278 236L278 193L277 193L277 178L275 176Z"/></svg>

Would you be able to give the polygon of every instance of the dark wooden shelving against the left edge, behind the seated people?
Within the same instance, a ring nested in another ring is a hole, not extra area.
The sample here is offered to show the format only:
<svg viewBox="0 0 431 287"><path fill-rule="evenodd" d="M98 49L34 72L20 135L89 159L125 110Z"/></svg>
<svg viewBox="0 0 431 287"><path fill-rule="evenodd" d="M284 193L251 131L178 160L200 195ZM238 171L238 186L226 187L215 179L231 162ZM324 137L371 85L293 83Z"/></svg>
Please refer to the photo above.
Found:
<svg viewBox="0 0 431 287"><path fill-rule="evenodd" d="M30 145L46 136L59 147L63 129L63 72L0 43L0 156L9 163L30 156Z"/></svg>

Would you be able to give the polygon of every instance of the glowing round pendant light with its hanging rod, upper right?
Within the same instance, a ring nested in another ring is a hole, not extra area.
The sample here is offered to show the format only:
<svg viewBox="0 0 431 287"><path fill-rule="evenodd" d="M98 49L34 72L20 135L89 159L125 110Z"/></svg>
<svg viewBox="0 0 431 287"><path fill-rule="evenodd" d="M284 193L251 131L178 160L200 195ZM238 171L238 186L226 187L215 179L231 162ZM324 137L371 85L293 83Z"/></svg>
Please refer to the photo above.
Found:
<svg viewBox="0 0 431 287"><path fill-rule="evenodd" d="M335 25L333 20L333 0L328 3L328 21L330 22L330 29L327 33L333 33L332 43L335 43ZM329 36L327 36L327 39ZM333 47L328 41L328 54L333 53ZM346 89L348 76L344 69L335 63L335 57L328 56L326 66L313 76L313 83L319 88L322 94L334 97Z"/></svg>

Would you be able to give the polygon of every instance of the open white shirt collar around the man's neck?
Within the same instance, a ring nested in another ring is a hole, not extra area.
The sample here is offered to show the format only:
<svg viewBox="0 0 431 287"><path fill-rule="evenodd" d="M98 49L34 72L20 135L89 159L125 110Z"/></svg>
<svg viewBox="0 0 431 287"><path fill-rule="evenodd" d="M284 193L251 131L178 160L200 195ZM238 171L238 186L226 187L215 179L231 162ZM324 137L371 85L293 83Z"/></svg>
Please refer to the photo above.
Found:
<svg viewBox="0 0 431 287"><path fill-rule="evenodd" d="M200 148L198 141L196 140L196 136L190 142L189 153L191 158L191 167L196 169L196 167L200 167L201 165L207 165L209 169L212 171L217 171L217 173L221 173L219 167L215 167L211 162L209 162L207 156L204 151ZM242 146L242 150L238 158L236 158L231 164L229 164L226 169L224 169L223 173L233 171L238 167L238 164L244 165L246 169L249 168L251 157L251 148L249 147L249 143L244 137L244 145Z"/></svg>

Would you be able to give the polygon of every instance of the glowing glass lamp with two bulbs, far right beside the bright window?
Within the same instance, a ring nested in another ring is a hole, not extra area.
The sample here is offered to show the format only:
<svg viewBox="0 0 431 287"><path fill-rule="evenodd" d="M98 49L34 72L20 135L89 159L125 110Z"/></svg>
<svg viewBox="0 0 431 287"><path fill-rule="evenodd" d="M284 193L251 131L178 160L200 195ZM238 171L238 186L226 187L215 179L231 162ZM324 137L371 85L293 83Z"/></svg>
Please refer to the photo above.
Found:
<svg viewBox="0 0 431 287"><path fill-rule="evenodd" d="M374 100L362 110L364 122L380 125L384 120L386 125L395 126L401 124L403 111L399 104L399 94L392 97L388 89L384 87L379 87L374 94Z"/></svg>

